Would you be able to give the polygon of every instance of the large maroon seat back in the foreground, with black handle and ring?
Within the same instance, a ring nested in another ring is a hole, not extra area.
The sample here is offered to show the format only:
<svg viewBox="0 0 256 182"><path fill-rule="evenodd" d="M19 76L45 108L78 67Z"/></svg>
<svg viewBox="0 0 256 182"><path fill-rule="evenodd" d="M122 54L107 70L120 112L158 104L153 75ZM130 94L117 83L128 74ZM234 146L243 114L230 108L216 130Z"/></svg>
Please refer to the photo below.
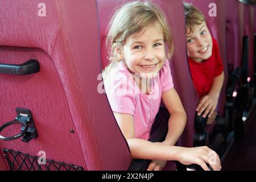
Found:
<svg viewBox="0 0 256 182"><path fill-rule="evenodd" d="M38 131L38 138L28 143L0 140L1 150L32 156L45 151L46 159L85 170L127 169L129 150L105 94L97 89L101 71L96 1L45 0L46 16L38 15L40 2L0 1L0 63L36 59L40 64L40 72L32 75L0 74L0 125L15 118L15 107L22 107L31 110ZM1 135L17 131L7 127ZM9 169L2 152L0 169Z"/></svg>

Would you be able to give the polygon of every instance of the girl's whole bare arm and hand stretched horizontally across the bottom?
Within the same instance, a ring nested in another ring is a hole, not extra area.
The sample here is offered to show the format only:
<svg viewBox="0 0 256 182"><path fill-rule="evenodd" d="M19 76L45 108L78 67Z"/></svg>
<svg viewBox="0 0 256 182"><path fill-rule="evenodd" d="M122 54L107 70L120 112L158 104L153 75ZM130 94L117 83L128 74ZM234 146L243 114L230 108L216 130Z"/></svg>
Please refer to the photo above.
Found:
<svg viewBox="0 0 256 182"><path fill-rule="evenodd" d="M198 164L204 170L209 170L206 164L209 163L214 170L221 168L220 158L216 152L206 146L184 148L135 138L133 115L115 112L114 115L127 140L133 159L177 160L185 165Z"/></svg>

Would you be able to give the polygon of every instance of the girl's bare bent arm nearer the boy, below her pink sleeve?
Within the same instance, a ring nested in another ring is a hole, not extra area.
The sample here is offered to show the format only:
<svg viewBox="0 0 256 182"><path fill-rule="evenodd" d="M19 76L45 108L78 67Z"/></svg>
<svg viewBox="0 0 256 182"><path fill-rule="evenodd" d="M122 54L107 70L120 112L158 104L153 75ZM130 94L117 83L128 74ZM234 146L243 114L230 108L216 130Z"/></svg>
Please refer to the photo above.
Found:
<svg viewBox="0 0 256 182"><path fill-rule="evenodd" d="M164 144L174 146L180 135L183 133L187 122L187 115L174 88L162 94L164 105L166 105L170 118L168 122L168 133Z"/></svg>

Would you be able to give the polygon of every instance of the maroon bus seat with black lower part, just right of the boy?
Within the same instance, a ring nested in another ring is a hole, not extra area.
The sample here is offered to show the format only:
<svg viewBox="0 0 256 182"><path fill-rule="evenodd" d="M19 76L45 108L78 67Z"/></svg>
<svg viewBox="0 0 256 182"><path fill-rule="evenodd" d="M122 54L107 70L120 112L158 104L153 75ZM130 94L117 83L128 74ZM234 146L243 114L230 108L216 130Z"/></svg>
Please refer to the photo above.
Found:
<svg viewBox="0 0 256 182"><path fill-rule="evenodd" d="M243 26L244 26L244 6L241 2L233 0L226 2L226 50L227 50L227 61L229 70L229 88L227 89L227 101L236 107L236 112L229 116L229 130L235 131L235 138L238 135L242 136L243 126L241 124L242 120L242 97L247 95L241 90L241 77L242 77L242 57L243 57ZM237 74L238 73L238 74ZM231 86L230 86L231 85ZM234 89L230 89L230 88ZM235 92L234 92L235 90ZM233 93L237 93L233 97ZM229 104L229 105L230 105ZM229 107L231 112L233 108ZM237 114L235 114L237 113Z"/></svg>

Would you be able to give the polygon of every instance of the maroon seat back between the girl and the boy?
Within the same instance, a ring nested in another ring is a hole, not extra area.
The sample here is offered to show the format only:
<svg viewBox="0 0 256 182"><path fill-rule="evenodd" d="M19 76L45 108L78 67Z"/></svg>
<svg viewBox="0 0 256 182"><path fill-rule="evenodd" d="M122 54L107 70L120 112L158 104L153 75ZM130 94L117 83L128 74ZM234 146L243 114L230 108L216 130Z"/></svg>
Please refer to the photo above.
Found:
<svg viewBox="0 0 256 182"><path fill-rule="evenodd" d="M195 134L195 110L199 97L193 86L188 67L183 3L177 0L156 0L153 2L163 9L171 27L174 37L174 55L170 60L171 74L174 87L187 113L187 125L177 144L179 146L192 147Z"/></svg>

